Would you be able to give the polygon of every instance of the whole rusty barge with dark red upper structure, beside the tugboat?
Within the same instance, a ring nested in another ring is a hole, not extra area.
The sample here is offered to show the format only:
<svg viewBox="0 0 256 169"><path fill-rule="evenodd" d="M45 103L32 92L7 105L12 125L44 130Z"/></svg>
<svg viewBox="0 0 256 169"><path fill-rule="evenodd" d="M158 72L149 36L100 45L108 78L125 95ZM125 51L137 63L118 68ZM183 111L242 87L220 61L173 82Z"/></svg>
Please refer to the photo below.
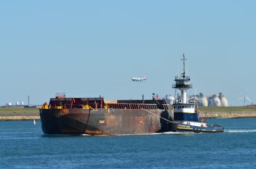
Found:
<svg viewBox="0 0 256 169"><path fill-rule="evenodd" d="M134 135L175 132L166 100L66 98L57 93L44 103L40 119L44 134Z"/></svg>

